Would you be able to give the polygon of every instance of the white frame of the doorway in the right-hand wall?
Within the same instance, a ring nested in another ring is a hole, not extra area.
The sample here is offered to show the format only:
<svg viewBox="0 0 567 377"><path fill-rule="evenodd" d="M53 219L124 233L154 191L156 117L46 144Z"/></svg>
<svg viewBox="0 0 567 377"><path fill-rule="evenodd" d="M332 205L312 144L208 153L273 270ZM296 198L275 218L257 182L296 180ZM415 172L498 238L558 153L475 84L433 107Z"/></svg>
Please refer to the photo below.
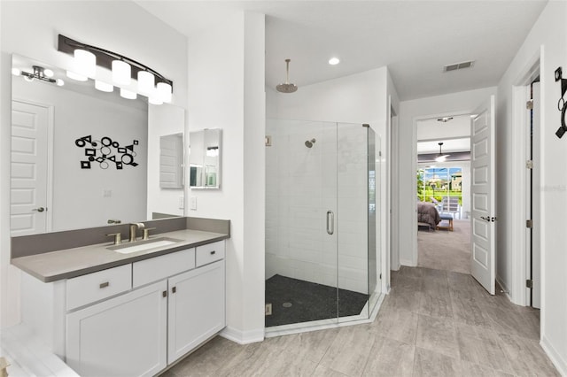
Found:
<svg viewBox="0 0 567 377"><path fill-rule="evenodd" d="M529 192L527 189L527 169L525 162L528 159L527 145L529 142L529 121L528 111L525 103L529 99L529 87L532 81L540 75L540 50L525 65L523 73L519 75L515 85L512 87L512 124L521 132L514 132L511 135L512 141L512 158L510 161L510 170L512 172L511 190L511 212L510 226L511 235L524 235L524 237L510 237L509 250L518 250L517 253L511 253L512 259L512 279L509 290L510 300L514 304L526 306L530 304L530 289L525 286L525 281L530 273L530 250L528 245L528 230L525 227L527 219L527 204L529 201ZM540 103L542 103L540 96ZM540 125L543 125L543 112L540 112ZM537 149L536 149L537 150ZM540 203L533 204L533 211L540 210ZM541 250L541 249L540 249ZM543 250L541 250L543 252ZM541 257L541 256L540 256ZM540 273L541 281L543 281L543 271ZM500 282L500 281L499 281ZM543 290L543 287L540 286ZM543 295L542 295L543 296ZM541 303L541 312L543 312L543 302Z"/></svg>

